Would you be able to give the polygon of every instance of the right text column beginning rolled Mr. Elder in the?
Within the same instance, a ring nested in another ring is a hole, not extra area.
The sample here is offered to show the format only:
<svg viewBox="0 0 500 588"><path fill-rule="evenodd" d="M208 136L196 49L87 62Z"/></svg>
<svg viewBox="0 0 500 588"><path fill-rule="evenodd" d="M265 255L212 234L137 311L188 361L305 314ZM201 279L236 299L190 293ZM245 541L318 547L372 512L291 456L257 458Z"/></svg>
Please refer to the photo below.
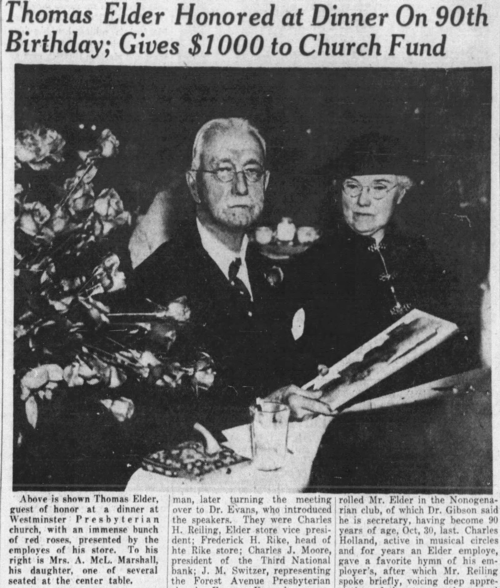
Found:
<svg viewBox="0 0 500 588"><path fill-rule="evenodd" d="M498 499L338 497L339 586L498 585Z"/></svg>

